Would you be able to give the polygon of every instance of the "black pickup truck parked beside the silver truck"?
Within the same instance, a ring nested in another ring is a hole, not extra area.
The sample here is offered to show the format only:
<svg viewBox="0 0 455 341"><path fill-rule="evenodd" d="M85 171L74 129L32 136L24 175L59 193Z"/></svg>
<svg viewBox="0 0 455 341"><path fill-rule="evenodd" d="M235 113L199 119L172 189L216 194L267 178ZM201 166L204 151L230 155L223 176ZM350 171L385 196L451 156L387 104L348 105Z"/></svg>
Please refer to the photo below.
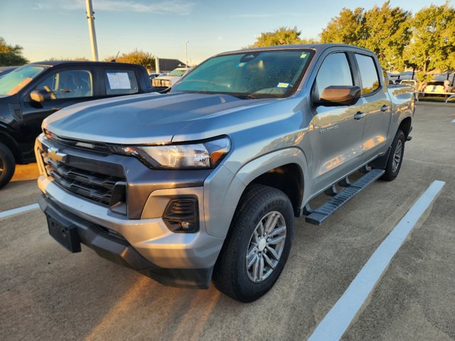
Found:
<svg viewBox="0 0 455 341"><path fill-rule="evenodd" d="M41 122L71 104L151 92L144 67L127 63L47 61L18 67L0 78L0 188L16 163L35 162Z"/></svg>

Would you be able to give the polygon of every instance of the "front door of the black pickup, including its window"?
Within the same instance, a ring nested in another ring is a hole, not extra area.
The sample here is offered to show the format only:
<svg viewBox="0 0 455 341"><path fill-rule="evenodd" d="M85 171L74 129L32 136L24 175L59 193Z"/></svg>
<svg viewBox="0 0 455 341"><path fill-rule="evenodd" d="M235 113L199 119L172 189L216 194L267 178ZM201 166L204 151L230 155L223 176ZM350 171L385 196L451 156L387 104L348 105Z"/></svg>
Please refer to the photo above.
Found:
<svg viewBox="0 0 455 341"><path fill-rule="evenodd" d="M36 136L41 134L43 119L71 104L96 98L92 75L91 68L59 68L38 80L37 85L26 92L21 101L23 133L30 136L31 148ZM44 102L33 101L30 97L33 90L45 90L50 94L50 99Z"/></svg>

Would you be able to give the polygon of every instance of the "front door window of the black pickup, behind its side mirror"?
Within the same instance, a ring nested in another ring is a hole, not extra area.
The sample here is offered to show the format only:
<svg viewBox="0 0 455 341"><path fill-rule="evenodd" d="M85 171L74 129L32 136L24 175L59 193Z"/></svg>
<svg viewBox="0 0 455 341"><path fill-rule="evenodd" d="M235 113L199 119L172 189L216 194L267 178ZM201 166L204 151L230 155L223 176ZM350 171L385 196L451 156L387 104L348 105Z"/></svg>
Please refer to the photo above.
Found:
<svg viewBox="0 0 455 341"><path fill-rule="evenodd" d="M93 97L93 77L90 70L55 72L40 82L35 90L49 92L51 99Z"/></svg>

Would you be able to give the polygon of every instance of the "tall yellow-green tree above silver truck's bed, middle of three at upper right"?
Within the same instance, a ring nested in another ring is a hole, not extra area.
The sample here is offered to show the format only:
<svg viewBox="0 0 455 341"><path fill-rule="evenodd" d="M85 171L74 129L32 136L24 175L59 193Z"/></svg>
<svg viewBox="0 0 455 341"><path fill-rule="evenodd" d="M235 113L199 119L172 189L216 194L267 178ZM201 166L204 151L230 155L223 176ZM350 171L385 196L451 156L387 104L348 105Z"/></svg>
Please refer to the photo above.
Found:
<svg viewBox="0 0 455 341"><path fill-rule="evenodd" d="M362 46L372 50L386 70L398 70L405 66L403 51L410 43L411 13L390 8L390 1L365 13L365 40Z"/></svg>

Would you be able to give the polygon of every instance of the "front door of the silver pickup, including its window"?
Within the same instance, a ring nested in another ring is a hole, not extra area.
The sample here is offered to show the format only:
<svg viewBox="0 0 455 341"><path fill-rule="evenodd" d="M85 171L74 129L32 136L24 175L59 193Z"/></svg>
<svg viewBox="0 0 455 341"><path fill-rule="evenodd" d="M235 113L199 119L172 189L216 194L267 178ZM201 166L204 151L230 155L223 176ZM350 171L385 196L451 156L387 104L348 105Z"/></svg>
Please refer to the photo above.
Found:
<svg viewBox="0 0 455 341"><path fill-rule="evenodd" d="M332 53L321 64L311 89L312 101L332 85L355 85L353 69L346 53ZM340 180L360 167L360 152L365 121L354 119L359 104L338 107L311 107L309 126L313 193Z"/></svg>

